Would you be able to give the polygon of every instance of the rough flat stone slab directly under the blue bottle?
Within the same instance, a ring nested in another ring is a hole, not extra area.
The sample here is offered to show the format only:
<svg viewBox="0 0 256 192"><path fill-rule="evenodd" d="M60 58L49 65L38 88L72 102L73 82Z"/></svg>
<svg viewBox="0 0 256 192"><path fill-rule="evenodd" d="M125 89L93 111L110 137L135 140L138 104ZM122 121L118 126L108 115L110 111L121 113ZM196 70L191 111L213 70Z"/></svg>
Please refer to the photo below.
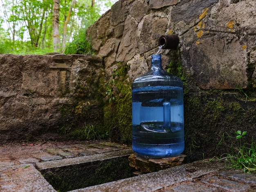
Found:
<svg viewBox="0 0 256 192"><path fill-rule="evenodd" d="M134 153L129 156L129 162L131 167L135 167L141 173L151 173L186 163L186 155L180 154L178 156L156 159L146 158Z"/></svg>

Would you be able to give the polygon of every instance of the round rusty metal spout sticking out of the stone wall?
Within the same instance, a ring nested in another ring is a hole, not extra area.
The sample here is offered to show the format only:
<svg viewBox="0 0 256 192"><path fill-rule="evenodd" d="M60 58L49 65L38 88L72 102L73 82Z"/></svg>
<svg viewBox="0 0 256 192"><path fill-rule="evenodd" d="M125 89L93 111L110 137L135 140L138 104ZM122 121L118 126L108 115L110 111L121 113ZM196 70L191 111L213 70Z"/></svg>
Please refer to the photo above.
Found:
<svg viewBox="0 0 256 192"><path fill-rule="evenodd" d="M163 45L162 49L177 49L179 42L176 35L163 35L158 39L158 46Z"/></svg>

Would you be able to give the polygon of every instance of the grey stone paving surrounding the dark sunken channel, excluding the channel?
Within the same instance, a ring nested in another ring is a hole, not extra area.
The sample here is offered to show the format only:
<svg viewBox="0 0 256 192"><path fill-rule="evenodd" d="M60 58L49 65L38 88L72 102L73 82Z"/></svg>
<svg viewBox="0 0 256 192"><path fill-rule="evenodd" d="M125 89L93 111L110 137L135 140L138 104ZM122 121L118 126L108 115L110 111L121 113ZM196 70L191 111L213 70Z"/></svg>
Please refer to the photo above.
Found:
<svg viewBox="0 0 256 192"><path fill-rule="evenodd" d="M104 156L121 152L132 153L126 145L106 142L39 142L0 146L0 191L56 191L38 172L36 165L58 166L58 163L62 164L64 161L75 162L85 157L86 161L90 161L90 158L105 158ZM159 172L74 190L74 192L256 191L255 174L228 170L225 169L226 167L225 163L218 161L196 161Z"/></svg>

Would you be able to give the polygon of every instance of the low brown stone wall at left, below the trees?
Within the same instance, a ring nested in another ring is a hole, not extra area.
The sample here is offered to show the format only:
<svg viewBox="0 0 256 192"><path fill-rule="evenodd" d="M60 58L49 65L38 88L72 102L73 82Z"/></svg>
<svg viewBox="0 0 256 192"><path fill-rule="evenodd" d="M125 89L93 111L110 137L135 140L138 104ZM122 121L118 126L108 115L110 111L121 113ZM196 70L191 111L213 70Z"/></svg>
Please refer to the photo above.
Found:
<svg viewBox="0 0 256 192"><path fill-rule="evenodd" d="M56 139L61 128L103 118L100 58L7 54L0 66L0 143Z"/></svg>

